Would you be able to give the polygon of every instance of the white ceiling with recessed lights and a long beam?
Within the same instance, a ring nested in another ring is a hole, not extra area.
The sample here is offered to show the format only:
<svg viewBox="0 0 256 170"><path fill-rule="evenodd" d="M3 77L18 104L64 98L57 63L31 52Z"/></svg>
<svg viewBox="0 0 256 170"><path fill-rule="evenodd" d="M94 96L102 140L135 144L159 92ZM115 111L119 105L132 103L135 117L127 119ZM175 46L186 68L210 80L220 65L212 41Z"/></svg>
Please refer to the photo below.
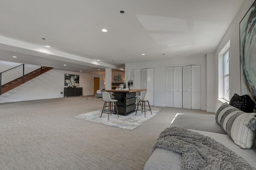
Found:
<svg viewBox="0 0 256 170"><path fill-rule="evenodd" d="M243 2L3 0L0 60L98 73L124 70L124 63L205 55L215 51Z"/></svg>

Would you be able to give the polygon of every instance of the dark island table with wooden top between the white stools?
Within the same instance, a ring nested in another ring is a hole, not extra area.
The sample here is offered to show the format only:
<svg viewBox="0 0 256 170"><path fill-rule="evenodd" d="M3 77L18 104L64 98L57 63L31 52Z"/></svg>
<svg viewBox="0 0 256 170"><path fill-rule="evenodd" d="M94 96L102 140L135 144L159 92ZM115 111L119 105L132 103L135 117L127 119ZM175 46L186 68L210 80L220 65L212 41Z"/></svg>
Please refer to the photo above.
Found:
<svg viewBox="0 0 256 170"><path fill-rule="evenodd" d="M133 90L102 90L107 92L114 92L116 106L119 115L129 115L136 111L136 92L146 91L146 89L133 89Z"/></svg>

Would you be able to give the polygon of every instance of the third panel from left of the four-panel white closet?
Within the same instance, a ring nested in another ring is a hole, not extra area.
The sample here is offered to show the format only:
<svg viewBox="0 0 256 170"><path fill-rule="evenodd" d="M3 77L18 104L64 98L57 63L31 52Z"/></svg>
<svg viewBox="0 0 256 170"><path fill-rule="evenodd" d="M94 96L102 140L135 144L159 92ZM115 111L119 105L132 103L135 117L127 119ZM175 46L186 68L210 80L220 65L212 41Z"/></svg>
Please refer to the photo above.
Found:
<svg viewBox="0 0 256 170"><path fill-rule="evenodd" d="M183 102L182 106L185 109L191 109L191 65L183 67L183 77L182 77L182 86L183 86Z"/></svg>

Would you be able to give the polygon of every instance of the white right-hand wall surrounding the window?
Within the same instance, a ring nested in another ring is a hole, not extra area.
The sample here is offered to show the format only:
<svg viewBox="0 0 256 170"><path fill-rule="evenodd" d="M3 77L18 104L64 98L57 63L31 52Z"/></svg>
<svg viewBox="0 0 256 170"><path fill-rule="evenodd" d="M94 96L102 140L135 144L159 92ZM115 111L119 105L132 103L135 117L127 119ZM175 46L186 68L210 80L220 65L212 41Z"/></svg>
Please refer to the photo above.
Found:
<svg viewBox="0 0 256 170"><path fill-rule="evenodd" d="M218 110L222 102L218 101L218 54L230 40L230 96L234 93L241 95L240 89L240 30L239 23L245 16L246 12L252 6L254 0L244 1L242 7L236 14L233 22L230 24L227 32L220 41L216 51L214 52L214 75L215 75L215 111Z"/></svg>

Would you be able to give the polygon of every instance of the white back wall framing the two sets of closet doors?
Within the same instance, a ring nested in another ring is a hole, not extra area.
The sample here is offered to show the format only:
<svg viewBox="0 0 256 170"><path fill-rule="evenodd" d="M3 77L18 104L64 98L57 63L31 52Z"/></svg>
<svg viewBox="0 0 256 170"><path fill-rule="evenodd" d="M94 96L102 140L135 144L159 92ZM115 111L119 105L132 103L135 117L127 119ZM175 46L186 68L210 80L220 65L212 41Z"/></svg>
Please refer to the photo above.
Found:
<svg viewBox="0 0 256 170"><path fill-rule="evenodd" d="M126 82L130 69L154 68L154 105L166 106L166 67L184 66L191 64L201 65L202 73L202 109L206 110L206 56L177 57L157 61L143 61L125 64ZM210 108L213 109L213 108Z"/></svg>

